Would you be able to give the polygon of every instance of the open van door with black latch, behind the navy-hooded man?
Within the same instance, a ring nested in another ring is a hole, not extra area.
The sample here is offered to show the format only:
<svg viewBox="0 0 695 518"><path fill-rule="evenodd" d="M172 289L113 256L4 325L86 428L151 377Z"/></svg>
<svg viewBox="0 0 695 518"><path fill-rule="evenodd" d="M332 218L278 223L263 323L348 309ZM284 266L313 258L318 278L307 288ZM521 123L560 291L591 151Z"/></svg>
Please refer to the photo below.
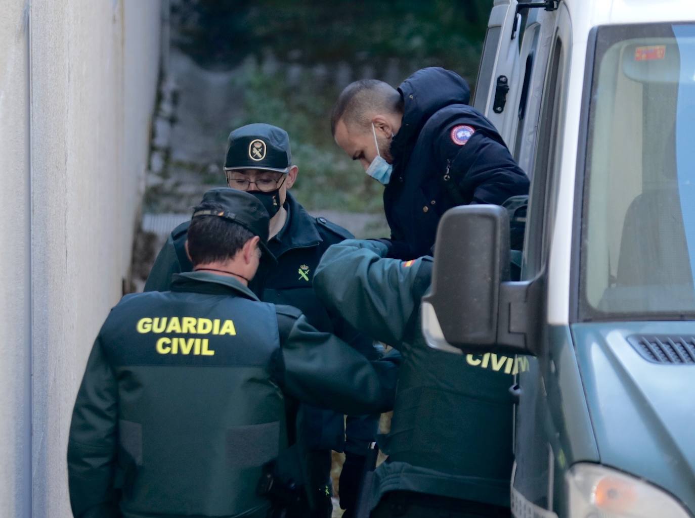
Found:
<svg viewBox="0 0 695 518"><path fill-rule="evenodd" d="M517 0L498 0L490 13L473 106L495 124L509 144L504 118L507 99L516 99L521 87L518 77L521 15L516 12ZM507 128L508 130L509 128Z"/></svg>

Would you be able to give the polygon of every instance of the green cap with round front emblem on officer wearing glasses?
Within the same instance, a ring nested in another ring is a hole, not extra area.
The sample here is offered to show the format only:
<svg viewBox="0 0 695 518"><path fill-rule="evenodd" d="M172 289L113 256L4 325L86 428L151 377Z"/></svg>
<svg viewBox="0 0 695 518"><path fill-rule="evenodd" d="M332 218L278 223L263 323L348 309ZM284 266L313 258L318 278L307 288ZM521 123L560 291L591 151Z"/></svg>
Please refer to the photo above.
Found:
<svg viewBox="0 0 695 518"><path fill-rule="evenodd" d="M270 124L247 124L229 133L224 169L264 169L288 173L292 165L290 137Z"/></svg>

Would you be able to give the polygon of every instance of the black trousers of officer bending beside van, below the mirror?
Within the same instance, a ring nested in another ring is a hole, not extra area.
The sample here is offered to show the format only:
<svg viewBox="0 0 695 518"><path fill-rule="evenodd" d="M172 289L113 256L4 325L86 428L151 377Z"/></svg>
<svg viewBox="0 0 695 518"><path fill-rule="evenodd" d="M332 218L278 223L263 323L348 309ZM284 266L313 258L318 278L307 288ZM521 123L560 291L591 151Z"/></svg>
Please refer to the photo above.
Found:
<svg viewBox="0 0 695 518"><path fill-rule="evenodd" d="M370 518L510 518L509 508L409 491L385 494Z"/></svg>

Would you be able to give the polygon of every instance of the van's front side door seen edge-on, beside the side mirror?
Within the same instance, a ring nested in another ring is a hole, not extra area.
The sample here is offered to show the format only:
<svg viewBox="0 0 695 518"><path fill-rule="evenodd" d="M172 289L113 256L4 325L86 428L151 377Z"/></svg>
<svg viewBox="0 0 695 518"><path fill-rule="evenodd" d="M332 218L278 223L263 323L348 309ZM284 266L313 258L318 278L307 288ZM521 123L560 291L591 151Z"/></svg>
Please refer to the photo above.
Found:
<svg viewBox="0 0 695 518"><path fill-rule="evenodd" d="M538 125L539 134L534 151L522 280L539 279L546 290L550 283L546 267L562 158L571 43L569 13L561 3L557 26L552 31L548 67L543 74L543 100L539 112L534 115L535 120L529 121ZM545 314L543 309L541 315ZM541 340L537 346L538 355L519 359L514 387L518 405L514 426L512 514L518 518L557 517L553 495L558 485L562 485L561 470L555 468L558 462L562 465L565 460L564 451L559 447L559 437L564 430L557 429L561 425L557 424L549 401L557 399L553 348L569 347L571 350L571 337L567 326L551 328L545 320L538 323L543 326L537 333Z"/></svg>

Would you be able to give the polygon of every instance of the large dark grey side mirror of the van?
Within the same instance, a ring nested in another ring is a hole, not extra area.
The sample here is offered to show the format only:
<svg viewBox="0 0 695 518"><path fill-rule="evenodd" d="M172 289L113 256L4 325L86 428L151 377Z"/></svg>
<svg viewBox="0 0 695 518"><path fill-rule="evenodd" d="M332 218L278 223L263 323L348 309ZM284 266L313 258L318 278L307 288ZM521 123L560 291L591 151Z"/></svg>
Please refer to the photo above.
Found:
<svg viewBox="0 0 695 518"><path fill-rule="evenodd" d="M509 217L496 205L445 212L437 228L423 335L456 353L533 354L538 282L509 282Z"/></svg>

